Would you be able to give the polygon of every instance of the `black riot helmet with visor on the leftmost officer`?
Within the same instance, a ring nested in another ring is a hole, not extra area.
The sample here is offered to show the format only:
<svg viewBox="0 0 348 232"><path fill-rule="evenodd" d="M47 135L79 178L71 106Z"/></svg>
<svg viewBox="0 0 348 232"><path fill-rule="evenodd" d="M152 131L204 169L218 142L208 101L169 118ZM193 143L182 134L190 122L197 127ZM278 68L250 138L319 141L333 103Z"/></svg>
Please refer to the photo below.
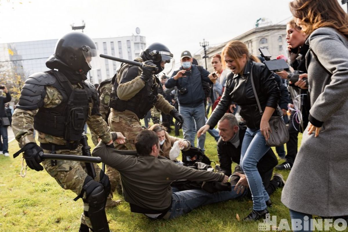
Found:
<svg viewBox="0 0 348 232"><path fill-rule="evenodd" d="M46 62L49 68L62 68L65 64L77 73L87 75L89 70L95 67L92 62L98 60L95 43L86 34L70 32L57 41L55 53Z"/></svg>

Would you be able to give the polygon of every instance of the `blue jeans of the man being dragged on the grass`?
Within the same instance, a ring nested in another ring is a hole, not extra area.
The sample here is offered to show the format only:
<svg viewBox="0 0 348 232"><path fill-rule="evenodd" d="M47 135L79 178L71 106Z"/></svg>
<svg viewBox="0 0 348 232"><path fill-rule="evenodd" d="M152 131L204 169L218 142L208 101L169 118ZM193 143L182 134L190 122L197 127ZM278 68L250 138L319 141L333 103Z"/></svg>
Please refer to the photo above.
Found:
<svg viewBox="0 0 348 232"><path fill-rule="evenodd" d="M222 191L216 193L208 193L202 189L185 190L180 192L172 192L172 208L168 211L171 212L169 218L178 217L180 215L189 213L191 210L216 202L227 201L246 195L247 191L237 194L232 186L232 191Z"/></svg>

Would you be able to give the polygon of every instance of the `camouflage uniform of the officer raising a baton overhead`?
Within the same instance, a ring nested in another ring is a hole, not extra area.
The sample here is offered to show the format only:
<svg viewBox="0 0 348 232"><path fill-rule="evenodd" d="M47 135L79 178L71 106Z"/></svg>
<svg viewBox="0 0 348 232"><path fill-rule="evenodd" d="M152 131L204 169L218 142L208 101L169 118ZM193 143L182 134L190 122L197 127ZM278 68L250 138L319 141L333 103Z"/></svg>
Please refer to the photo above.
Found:
<svg viewBox="0 0 348 232"><path fill-rule="evenodd" d="M136 60L142 62L140 57L137 57ZM142 73L142 69L140 67L137 75L132 77L131 81L120 83L121 79L127 75L130 66L132 65L121 67L115 80L119 84L117 90L115 91L117 91L118 98L123 101L130 100L145 87L144 81L140 78ZM158 83L156 81L157 78L155 75L153 75L153 79L153 85L155 85L155 88L158 88ZM157 94L155 107L166 114L169 114L171 110L175 109L174 106L170 105L160 94ZM136 113L129 110L120 112L111 108L109 115L109 126L111 127L112 131L121 132L126 137L126 143L117 144L117 146L115 146L116 149L136 150L134 145L135 138L143 130L140 119Z"/></svg>

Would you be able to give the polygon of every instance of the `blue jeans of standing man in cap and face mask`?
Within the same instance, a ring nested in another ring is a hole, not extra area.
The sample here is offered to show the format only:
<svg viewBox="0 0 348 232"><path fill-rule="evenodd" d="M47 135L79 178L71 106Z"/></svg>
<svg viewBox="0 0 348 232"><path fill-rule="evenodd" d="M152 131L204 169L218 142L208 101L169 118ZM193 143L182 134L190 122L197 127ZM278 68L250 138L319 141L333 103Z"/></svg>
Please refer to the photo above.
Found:
<svg viewBox="0 0 348 232"><path fill-rule="evenodd" d="M197 130L205 125L205 114L204 114L204 104L200 104L196 107L182 106L179 105L179 113L184 118L184 123L182 125L182 131L184 134L184 139L190 141L192 146L195 146L195 135ZM196 130L194 130L194 125L196 122ZM205 134L198 138L198 147L204 151Z"/></svg>

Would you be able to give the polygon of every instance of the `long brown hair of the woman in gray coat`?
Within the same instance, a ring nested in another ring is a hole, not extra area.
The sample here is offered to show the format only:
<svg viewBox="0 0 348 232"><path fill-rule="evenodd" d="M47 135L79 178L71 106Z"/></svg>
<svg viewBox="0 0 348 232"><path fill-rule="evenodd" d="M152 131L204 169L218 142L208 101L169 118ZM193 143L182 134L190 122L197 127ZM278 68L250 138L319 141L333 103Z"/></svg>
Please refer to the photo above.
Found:
<svg viewBox="0 0 348 232"><path fill-rule="evenodd" d="M319 27L332 27L348 38L348 15L337 0L295 0L290 2L290 11L300 23L306 34Z"/></svg>

